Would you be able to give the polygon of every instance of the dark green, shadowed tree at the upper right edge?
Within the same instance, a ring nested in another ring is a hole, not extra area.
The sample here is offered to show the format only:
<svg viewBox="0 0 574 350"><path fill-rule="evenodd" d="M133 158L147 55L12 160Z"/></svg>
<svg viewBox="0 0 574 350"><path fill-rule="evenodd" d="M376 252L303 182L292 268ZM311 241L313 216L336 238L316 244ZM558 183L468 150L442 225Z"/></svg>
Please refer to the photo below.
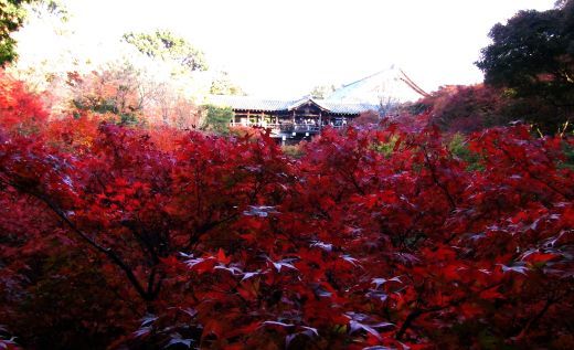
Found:
<svg viewBox="0 0 574 350"><path fill-rule="evenodd" d="M507 24L496 24L489 36L492 44L476 62L485 83L559 107L562 123L572 118L574 0L560 1L548 11L520 11Z"/></svg>

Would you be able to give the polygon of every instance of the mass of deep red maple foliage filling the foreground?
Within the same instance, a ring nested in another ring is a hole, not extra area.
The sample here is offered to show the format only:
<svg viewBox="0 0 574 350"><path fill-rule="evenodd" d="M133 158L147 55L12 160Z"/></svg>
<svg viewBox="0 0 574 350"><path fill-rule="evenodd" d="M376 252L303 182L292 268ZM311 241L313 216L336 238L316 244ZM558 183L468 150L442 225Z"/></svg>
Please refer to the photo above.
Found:
<svg viewBox="0 0 574 350"><path fill-rule="evenodd" d="M493 128L461 159L389 124L290 158L49 123L6 77L0 113L2 348L574 347L568 140Z"/></svg>

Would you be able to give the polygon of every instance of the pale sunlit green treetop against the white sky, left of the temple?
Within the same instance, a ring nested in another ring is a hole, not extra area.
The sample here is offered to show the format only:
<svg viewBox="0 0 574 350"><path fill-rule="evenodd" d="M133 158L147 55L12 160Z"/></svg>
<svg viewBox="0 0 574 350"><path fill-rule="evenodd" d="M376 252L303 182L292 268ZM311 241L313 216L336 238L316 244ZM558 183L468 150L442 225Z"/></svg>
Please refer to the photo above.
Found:
<svg viewBox="0 0 574 350"><path fill-rule="evenodd" d="M184 71L208 70L203 52L170 31L130 32L124 34L124 40L136 46L141 53L153 59L177 63Z"/></svg>

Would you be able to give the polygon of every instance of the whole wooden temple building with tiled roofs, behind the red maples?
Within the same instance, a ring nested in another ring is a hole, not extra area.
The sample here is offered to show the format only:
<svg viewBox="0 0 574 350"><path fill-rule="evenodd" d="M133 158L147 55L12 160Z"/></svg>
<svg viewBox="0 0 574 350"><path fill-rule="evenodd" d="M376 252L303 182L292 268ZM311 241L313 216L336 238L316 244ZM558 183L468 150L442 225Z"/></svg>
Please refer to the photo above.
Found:
<svg viewBox="0 0 574 350"><path fill-rule="evenodd" d="M415 97L425 94L402 71L397 73L391 67L343 85L326 99L310 96L298 99L264 99L211 95L208 103L231 107L234 112L234 117L230 120L232 127L261 126L270 128L272 136L283 141L298 141L310 138L325 127L342 128L360 114L370 110L384 117L390 105L404 100L396 92L391 92L391 87L396 89L397 86Z"/></svg>

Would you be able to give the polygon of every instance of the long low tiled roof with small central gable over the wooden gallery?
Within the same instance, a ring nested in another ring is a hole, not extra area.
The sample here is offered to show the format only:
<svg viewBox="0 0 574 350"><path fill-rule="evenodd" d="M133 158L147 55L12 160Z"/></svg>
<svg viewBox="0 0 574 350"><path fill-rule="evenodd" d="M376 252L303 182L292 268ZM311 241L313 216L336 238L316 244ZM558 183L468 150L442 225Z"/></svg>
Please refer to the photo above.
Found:
<svg viewBox="0 0 574 350"><path fill-rule="evenodd" d="M208 102L217 106L227 106L240 110L258 110L258 112L278 112L291 110L298 106L312 102L322 109L334 114L360 114L366 110L376 110L378 105L368 103L341 103L331 99L315 99L315 98L299 98L299 99L262 99L251 96L226 96L226 95L211 95Z"/></svg>

